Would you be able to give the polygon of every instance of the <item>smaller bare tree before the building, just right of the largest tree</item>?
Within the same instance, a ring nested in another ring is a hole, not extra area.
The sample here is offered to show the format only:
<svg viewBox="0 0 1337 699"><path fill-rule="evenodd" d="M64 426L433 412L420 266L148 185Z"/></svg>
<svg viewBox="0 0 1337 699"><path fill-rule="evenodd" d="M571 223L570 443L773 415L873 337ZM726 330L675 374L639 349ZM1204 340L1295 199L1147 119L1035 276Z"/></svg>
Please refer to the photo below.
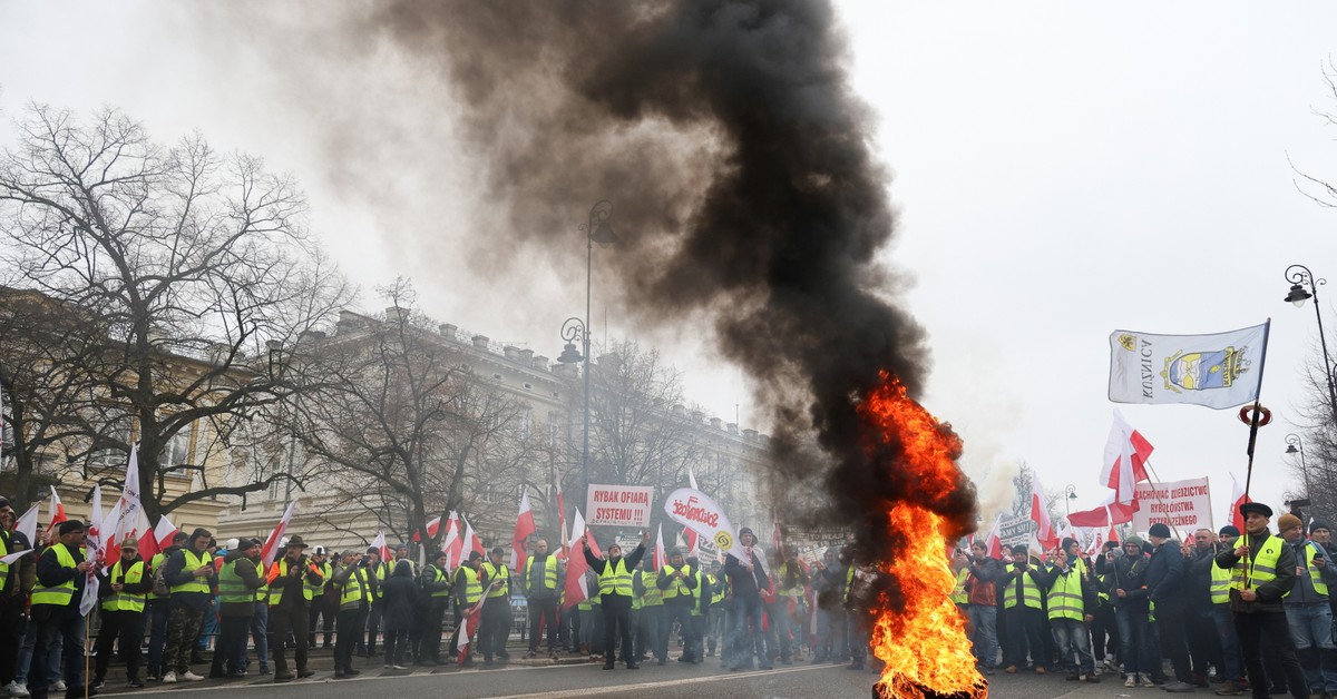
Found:
<svg viewBox="0 0 1337 699"><path fill-rule="evenodd" d="M345 505L412 536L452 509L476 512L489 488L509 491L533 449L517 429L525 406L429 329L412 287L384 293L384 319L344 323L295 358L303 390L282 420L330 466ZM422 539L435 547L443 536Z"/></svg>

